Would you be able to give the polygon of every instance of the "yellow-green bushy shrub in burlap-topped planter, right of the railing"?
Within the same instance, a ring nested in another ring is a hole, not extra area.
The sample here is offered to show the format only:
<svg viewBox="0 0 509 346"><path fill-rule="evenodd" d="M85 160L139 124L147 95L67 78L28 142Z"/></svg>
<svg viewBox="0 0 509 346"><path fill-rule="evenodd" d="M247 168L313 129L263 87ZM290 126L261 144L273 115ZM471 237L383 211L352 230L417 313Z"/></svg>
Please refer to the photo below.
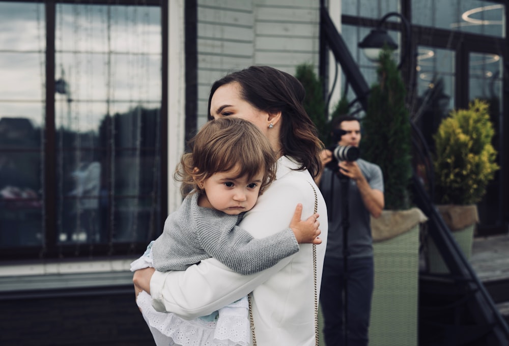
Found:
<svg viewBox="0 0 509 346"><path fill-rule="evenodd" d="M491 143L493 136L489 104L478 99L470 102L467 109L451 111L433 136L435 203L467 258L478 222L476 203L499 169ZM431 240L428 254L430 271L447 271Z"/></svg>

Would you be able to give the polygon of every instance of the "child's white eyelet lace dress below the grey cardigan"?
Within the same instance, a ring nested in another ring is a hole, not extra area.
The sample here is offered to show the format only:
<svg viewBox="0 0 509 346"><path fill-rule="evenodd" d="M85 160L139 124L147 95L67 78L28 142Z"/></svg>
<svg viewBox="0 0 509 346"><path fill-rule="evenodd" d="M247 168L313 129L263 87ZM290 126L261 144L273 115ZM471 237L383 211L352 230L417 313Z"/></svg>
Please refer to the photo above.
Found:
<svg viewBox="0 0 509 346"><path fill-rule="evenodd" d="M154 267L152 243L147 251L131 263L131 271ZM157 346L247 346L249 344L249 303L247 297L225 306L208 316L184 320L171 312L158 312L152 298L141 292L136 304L152 332Z"/></svg>

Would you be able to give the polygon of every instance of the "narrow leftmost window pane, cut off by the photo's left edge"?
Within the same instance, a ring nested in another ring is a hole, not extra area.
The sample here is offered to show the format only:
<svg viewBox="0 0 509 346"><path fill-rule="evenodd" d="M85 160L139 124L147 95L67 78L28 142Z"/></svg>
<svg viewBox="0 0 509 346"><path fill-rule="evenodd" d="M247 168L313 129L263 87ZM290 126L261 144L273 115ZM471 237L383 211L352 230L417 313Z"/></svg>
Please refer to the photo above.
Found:
<svg viewBox="0 0 509 346"><path fill-rule="evenodd" d="M0 3L0 248L43 239L44 5Z"/></svg>

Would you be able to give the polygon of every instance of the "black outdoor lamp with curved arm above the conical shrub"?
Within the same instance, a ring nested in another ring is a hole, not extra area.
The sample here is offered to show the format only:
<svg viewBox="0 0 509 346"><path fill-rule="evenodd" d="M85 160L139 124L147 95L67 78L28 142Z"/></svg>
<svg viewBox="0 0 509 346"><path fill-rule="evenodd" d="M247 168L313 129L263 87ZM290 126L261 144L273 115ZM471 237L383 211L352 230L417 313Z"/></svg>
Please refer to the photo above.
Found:
<svg viewBox="0 0 509 346"><path fill-rule="evenodd" d="M380 19L378 22L377 27L372 30L364 39L359 42L359 48L362 48L362 51L364 55L367 57L367 59L378 62L380 51L382 50L383 46L386 45L391 50L396 50L398 48L398 44L392 40L392 38L387 33L387 30L385 30L382 27L382 24L387 20L387 18L391 16L398 16L401 18L403 23L405 24L405 30L406 34L408 35L407 38L407 50L402 53L400 64L398 65L398 68L401 68L401 65L405 61L408 51L410 50L410 23L408 20L402 16L398 12L389 12L385 16Z"/></svg>

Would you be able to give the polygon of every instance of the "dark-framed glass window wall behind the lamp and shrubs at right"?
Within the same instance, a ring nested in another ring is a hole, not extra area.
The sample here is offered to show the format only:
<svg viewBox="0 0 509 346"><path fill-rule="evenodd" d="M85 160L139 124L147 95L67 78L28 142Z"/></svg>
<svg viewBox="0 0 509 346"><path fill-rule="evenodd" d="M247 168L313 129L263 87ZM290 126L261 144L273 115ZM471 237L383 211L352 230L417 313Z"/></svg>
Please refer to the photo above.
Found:
<svg viewBox="0 0 509 346"><path fill-rule="evenodd" d="M477 233L507 232L509 184L505 177L509 167L509 88L503 76L507 75L504 68L509 50L505 2L342 0L342 10L343 38L369 85L375 81L376 66L360 53L358 42L389 12L398 12L409 21L409 32L397 16L390 16L383 27L398 43L399 50L408 47L412 51L402 64L403 77L408 83L407 95L410 95L408 105L412 120L431 151L434 150L433 135L451 109L467 108L474 98L489 101L495 129L493 145L498 152L500 170L477 204L480 219ZM400 56L395 55L395 60L401 62ZM348 83L344 85L348 87ZM349 102L355 98L351 89L342 91L347 92Z"/></svg>

